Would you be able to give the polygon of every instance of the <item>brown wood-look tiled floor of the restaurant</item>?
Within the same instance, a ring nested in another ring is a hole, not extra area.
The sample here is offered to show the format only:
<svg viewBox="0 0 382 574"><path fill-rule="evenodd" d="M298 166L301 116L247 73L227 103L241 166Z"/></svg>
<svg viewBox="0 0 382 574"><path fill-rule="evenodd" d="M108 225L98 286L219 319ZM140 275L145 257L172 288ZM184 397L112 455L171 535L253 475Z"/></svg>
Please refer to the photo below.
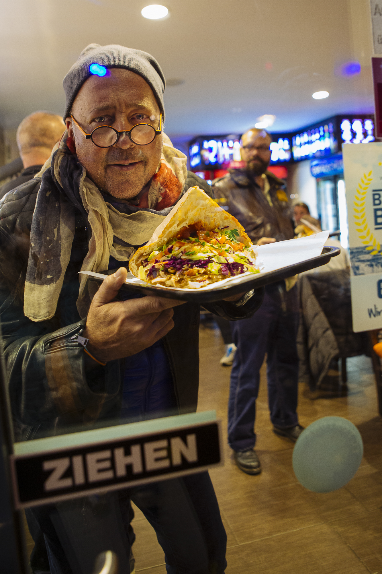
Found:
<svg viewBox="0 0 382 574"><path fill-rule="evenodd" d="M223 352L215 324L202 325L198 409L216 409L226 440L231 369L219 364ZM382 572L382 423L371 360L348 359L347 395L311 400L303 385L299 390L301 424L336 414L354 422L364 440L364 458L356 476L329 494L315 494L297 482L291 462L293 444L272 432L264 366L261 380L256 449L262 474L243 474L233 464L228 446L224 467L210 473L228 537L226 573ZM137 572L165 574L154 530L141 511L135 508L135 512Z"/></svg>

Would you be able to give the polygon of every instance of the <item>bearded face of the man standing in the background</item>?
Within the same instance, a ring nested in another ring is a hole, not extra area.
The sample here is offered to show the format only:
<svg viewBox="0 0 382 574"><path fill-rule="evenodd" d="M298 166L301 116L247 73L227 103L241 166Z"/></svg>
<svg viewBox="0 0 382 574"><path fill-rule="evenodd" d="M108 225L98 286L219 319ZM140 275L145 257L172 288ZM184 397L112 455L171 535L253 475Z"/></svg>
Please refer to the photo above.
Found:
<svg viewBox="0 0 382 574"><path fill-rule="evenodd" d="M272 139L263 130L248 130L241 138L241 157L247 163L248 171L255 176L266 172L271 160Z"/></svg>

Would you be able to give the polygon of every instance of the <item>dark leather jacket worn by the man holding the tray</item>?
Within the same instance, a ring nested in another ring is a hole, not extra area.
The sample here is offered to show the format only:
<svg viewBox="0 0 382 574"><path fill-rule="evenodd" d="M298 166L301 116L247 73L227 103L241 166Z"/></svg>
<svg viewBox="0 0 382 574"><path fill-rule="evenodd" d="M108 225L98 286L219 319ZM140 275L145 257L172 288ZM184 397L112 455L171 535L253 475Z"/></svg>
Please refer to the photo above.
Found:
<svg viewBox="0 0 382 574"><path fill-rule="evenodd" d="M88 250L88 231L79 211L71 261L54 317L34 322L24 315L30 226L40 184L41 179L30 180L0 203L0 319L16 440L85 429L107 420L115 424L121 405L123 361L100 366L71 340L86 321L76 308L77 272ZM192 185L212 193L203 180L189 173L186 189ZM261 298L252 297L243 307L225 301L205 307L235 320L252 316L260 302ZM173 319L175 326L163 343L178 412L192 412L198 393L199 305L188 302L174 308Z"/></svg>

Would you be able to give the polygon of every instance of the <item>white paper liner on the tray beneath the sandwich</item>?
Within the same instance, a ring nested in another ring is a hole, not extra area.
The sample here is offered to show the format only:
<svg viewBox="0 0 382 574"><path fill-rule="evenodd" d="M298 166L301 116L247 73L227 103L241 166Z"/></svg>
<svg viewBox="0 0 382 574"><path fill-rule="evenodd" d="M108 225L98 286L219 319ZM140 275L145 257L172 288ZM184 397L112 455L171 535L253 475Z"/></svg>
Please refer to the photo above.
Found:
<svg viewBox="0 0 382 574"><path fill-rule="evenodd" d="M256 258L256 266L260 269L260 274L270 273L276 269L283 269L283 267L289 267L290 265L295 265L296 263L301 263L302 261L307 261L307 259L313 259L313 257L318 257L321 255L322 247L329 237L329 231L321 231L315 235L309 235L307 237L301 237L298 239L287 239L287 241L279 241L276 243L268 243L268 245L255 245L255 250L258 253ZM85 275L90 275L98 279L104 279L107 276L101 273L94 273L92 271L81 271ZM140 285L140 286L150 286L158 287L159 289L170 289L171 291L181 291L184 292L209 292L220 289L225 285L233 286L240 284L243 278L252 276L257 277L257 274L251 273L241 273L235 277L228 277L221 281L216 281L212 285L206 285L200 289L179 289L176 287L167 287L166 285L153 285L148 284L138 277L134 277L130 272L127 275L126 283L129 285Z"/></svg>

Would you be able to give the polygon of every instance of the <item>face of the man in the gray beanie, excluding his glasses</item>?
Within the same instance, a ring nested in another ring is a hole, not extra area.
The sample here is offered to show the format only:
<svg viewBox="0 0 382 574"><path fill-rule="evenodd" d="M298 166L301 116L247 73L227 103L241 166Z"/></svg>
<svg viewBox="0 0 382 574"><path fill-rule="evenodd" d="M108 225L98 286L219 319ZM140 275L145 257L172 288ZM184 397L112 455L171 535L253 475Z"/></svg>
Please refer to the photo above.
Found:
<svg viewBox="0 0 382 574"><path fill-rule="evenodd" d="M128 131L137 123L150 123L158 129L159 107L149 84L125 69L112 68L108 72L104 77L89 77L76 96L72 115L82 129L90 134L106 125ZM157 170L162 135L142 146L122 134L111 148L98 148L91 139L85 139L71 118L66 123L79 161L102 191L119 199L135 197Z"/></svg>

